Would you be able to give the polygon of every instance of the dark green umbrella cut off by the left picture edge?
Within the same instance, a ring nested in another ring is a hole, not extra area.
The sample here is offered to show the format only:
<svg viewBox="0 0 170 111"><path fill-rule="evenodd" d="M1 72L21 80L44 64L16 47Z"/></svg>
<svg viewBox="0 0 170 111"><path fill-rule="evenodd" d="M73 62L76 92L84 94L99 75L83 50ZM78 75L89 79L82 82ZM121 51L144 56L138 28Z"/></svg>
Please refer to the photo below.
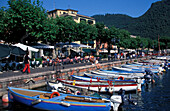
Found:
<svg viewBox="0 0 170 111"><path fill-rule="evenodd" d="M10 55L11 49L7 45L0 44L0 58L5 58Z"/></svg>

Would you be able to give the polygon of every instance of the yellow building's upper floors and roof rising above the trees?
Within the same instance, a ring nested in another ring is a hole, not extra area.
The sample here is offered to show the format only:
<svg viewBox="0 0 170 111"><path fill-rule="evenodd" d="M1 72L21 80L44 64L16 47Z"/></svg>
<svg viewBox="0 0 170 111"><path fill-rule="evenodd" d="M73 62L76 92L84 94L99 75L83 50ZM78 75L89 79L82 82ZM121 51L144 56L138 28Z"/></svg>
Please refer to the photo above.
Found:
<svg viewBox="0 0 170 111"><path fill-rule="evenodd" d="M77 10L72 10L72 9L67 9L67 10L55 9L55 10L52 10L52 11L47 11L48 17L56 18L57 16L58 17L71 16L76 23L80 23L81 21L86 21L88 24L95 24L96 23L94 18L77 14L77 12L78 12Z"/></svg>

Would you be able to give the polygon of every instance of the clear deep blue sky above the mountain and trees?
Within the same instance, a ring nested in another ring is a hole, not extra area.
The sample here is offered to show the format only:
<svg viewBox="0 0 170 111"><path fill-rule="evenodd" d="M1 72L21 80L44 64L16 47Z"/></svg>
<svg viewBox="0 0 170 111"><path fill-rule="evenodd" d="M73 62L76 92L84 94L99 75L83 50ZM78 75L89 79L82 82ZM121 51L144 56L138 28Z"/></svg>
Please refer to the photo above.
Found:
<svg viewBox="0 0 170 111"><path fill-rule="evenodd" d="M7 7L8 0L0 0L0 7ZM33 0L32 0L33 1ZM93 16L96 14L126 14L131 17L143 15L152 3L160 0L40 0L48 10L74 9L78 14Z"/></svg>

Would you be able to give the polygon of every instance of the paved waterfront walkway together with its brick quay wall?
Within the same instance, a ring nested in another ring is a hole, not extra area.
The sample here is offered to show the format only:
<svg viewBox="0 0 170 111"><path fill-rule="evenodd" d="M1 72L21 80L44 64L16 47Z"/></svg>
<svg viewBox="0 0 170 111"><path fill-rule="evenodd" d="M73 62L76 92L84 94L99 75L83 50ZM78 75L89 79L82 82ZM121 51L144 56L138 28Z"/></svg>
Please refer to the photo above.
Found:
<svg viewBox="0 0 170 111"><path fill-rule="evenodd" d="M129 60L101 60L99 61L102 69L109 69L113 66L125 64L126 62L133 62L134 60L140 59L129 59ZM38 88L45 86L47 80L55 80L56 77L68 78L71 74L82 75L84 72L96 70L96 65L88 63L76 63L60 66L60 72L56 73L56 69L53 66L40 67L31 69L31 73L22 73L21 71L8 71L0 74L0 96L7 93L6 88L22 87L22 88Z"/></svg>

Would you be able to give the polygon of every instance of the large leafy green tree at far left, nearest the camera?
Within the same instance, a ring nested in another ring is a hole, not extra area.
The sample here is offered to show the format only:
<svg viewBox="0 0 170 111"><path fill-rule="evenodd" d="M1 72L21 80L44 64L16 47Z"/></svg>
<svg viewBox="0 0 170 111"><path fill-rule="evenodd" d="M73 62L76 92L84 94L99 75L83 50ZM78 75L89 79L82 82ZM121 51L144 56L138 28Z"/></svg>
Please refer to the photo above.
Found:
<svg viewBox="0 0 170 111"><path fill-rule="evenodd" d="M47 18L42 3L37 0L33 4L31 0L9 0L9 9L5 11L3 20L5 26L3 35L7 42L16 43L37 41L42 37L43 22Z"/></svg>

